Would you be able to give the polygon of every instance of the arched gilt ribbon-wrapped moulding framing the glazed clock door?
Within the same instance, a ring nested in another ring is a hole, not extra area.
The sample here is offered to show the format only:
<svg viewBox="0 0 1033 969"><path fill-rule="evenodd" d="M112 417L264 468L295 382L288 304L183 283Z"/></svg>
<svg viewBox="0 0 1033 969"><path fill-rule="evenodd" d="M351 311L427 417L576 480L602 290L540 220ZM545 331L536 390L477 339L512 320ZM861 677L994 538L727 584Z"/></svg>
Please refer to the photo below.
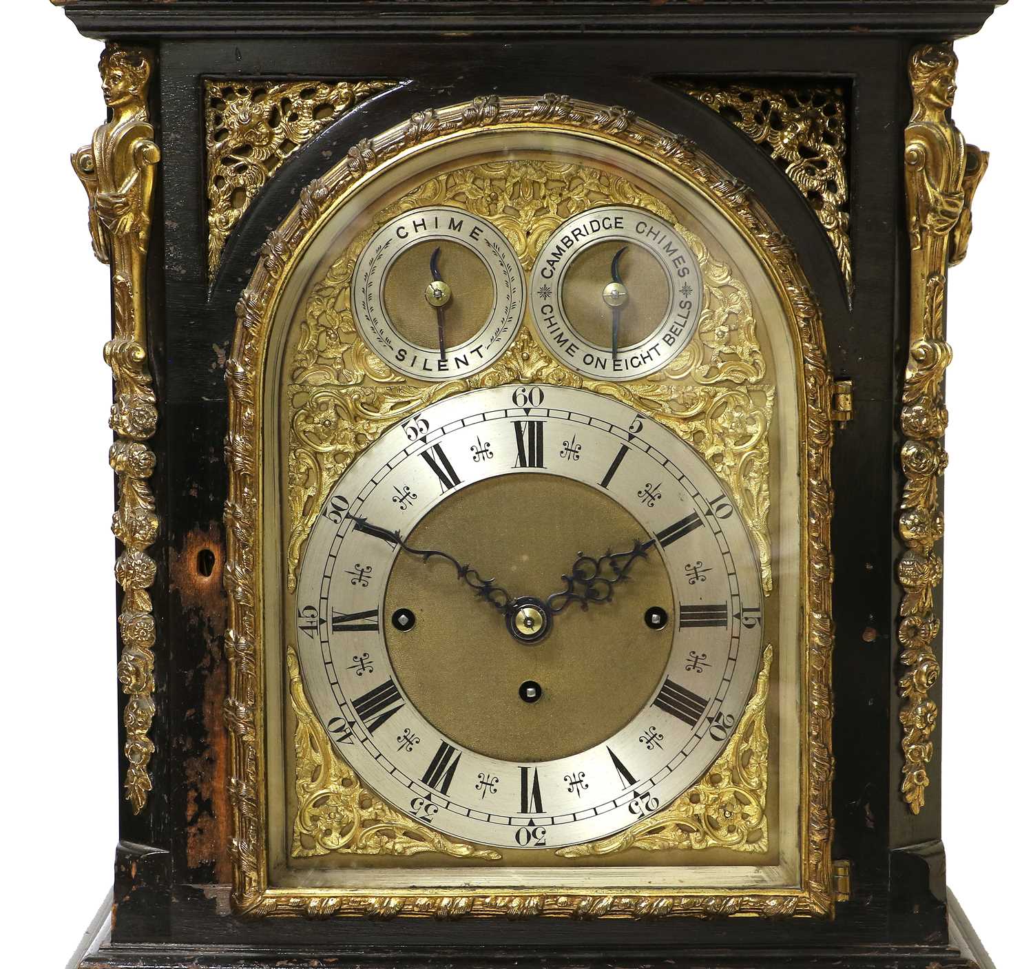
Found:
<svg viewBox="0 0 1033 969"><path fill-rule="evenodd" d="M269 327L282 286L302 243L339 201L402 153L443 136L486 128L534 126L573 132L630 149L691 182L756 246L795 323L801 352L800 385L806 409L803 467L806 474L802 548L807 608L803 643L804 739L801 810L803 869L799 888L702 893L671 888L521 887L477 893L459 887L375 895L362 889L275 888L268 882L264 777L263 655L259 623L262 562L261 408ZM815 915L832 911L831 864L832 697L831 557L832 381L820 318L788 241L755 205L747 188L705 158L684 137L638 120L621 107L601 107L560 95L477 98L417 112L407 123L361 142L322 179L306 187L283 225L262 247L259 264L238 305L238 325L227 361L229 433L226 504L229 623L226 651L229 696L225 704L230 743L232 902L251 915L399 914L452 917L463 914L573 915L583 917L682 915Z"/></svg>

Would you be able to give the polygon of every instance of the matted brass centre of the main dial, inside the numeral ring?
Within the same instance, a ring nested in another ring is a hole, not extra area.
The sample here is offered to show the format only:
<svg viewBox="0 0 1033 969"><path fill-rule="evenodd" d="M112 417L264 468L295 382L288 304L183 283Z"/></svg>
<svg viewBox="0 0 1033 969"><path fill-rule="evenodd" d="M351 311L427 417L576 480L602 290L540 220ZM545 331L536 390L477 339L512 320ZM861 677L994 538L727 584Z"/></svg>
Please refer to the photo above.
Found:
<svg viewBox="0 0 1033 969"><path fill-rule="evenodd" d="M636 561L609 602L550 616L545 599L581 552L624 551L644 535L618 502L559 475L501 475L442 501L407 544L473 563L515 602L507 619L449 562L400 554L384 613L409 608L415 628L385 629L399 686L445 737L503 760L569 756L613 737L649 702L670 659L671 630L641 620L658 601L672 607L660 556ZM520 692L528 681L540 684L533 700Z"/></svg>

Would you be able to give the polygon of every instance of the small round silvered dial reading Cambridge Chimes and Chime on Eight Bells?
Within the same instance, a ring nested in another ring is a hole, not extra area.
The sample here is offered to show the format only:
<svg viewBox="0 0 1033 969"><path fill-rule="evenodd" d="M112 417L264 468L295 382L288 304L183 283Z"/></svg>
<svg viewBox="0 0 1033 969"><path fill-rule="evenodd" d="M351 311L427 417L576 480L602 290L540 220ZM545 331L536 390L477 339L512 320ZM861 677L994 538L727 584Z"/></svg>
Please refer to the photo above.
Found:
<svg viewBox="0 0 1033 969"><path fill-rule="evenodd" d="M669 365L695 332L702 294L685 238L633 206L567 219L531 271L531 315L542 343L571 370L603 380Z"/></svg>

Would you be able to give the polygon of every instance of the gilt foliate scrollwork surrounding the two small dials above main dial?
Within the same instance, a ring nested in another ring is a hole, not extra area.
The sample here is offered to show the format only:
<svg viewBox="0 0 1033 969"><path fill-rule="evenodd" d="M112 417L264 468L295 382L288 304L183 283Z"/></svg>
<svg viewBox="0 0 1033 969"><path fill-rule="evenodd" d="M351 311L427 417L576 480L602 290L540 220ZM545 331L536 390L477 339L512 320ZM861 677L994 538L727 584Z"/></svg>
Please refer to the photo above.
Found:
<svg viewBox="0 0 1033 969"><path fill-rule="evenodd" d="M392 420L456 390L450 384L403 382L359 336L351 287L359 279L359 253L374 232L429 201L460 207L497 226L530 271L560 224L613 198L674 222L667 207L618 175L567 162L490 162L438 176L407 193L379 214L374 226L334 262L309 296L288 388L292 413L288 589L294 587L302 543L338 475ZM699 237L683 233L702 275L694 336L654 380L623 382L620 392L609 393L669 421L667 426L691 439L729 484L757 545L766 593L772 584L768 428L775 387L764 380L766 365L745 283ZM422 294L417 293L416 300L422 303ZM612 387L609 380L595 381L572 372L523 327L506 352L475 377L466 378L462 388L527 380Z"/></svg>

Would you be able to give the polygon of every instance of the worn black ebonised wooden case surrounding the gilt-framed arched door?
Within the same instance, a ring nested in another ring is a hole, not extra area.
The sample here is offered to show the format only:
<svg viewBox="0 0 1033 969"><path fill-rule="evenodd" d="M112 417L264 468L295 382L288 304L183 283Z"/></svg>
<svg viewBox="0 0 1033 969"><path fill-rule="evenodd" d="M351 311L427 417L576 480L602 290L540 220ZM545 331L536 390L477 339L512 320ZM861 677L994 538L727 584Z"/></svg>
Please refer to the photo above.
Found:
<svg viewBox="0 0 1033 969"><path fill-rule="evenodd" d="M542 4L74 0L85 33L157 55L153 118L162 165L150 253L150 349L160 402L155 492L157 704L147 809L121 818L114 943L84 965L622 965L943 969L948 943L939 788L915 817L898 792L893 455L908 332L900 155L915 40L978 29L990 2ZM520 34L518 38L515 35ZM770 158L664 76L838 79L849 89L852 308L813 212ZM209 288L202 77L407 77L292 155L227 241ZM222 362L234 304L267 235L298 193L362 137L412 112L476 95L558 91L621 104L676 132L751 185L792 239L824 315L834 374L854 418L833 454L837 513L835 857L854 863L834 921L468 919L242 920L228 909ZM858 363L859 362L859 363ZM213 553L210 575L198 554ZM934 764L934 778L939 777ZM284 961L286 954L296 960Z"/></svg>

